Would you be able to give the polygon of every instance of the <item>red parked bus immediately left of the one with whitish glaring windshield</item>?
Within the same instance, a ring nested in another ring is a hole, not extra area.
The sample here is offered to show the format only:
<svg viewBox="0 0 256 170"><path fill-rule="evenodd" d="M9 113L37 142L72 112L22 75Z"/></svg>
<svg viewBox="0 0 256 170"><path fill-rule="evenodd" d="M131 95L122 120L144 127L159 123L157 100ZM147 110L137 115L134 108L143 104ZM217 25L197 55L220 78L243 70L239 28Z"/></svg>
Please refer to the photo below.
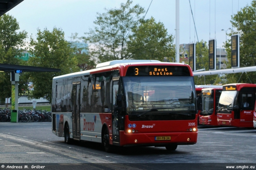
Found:
<svg viewBox="0 0 256 170"><path fill-rule="evenodd" d="M199 124L218 125L217 109L222 88L202 89L202 111L199 114Z"/></svg>

